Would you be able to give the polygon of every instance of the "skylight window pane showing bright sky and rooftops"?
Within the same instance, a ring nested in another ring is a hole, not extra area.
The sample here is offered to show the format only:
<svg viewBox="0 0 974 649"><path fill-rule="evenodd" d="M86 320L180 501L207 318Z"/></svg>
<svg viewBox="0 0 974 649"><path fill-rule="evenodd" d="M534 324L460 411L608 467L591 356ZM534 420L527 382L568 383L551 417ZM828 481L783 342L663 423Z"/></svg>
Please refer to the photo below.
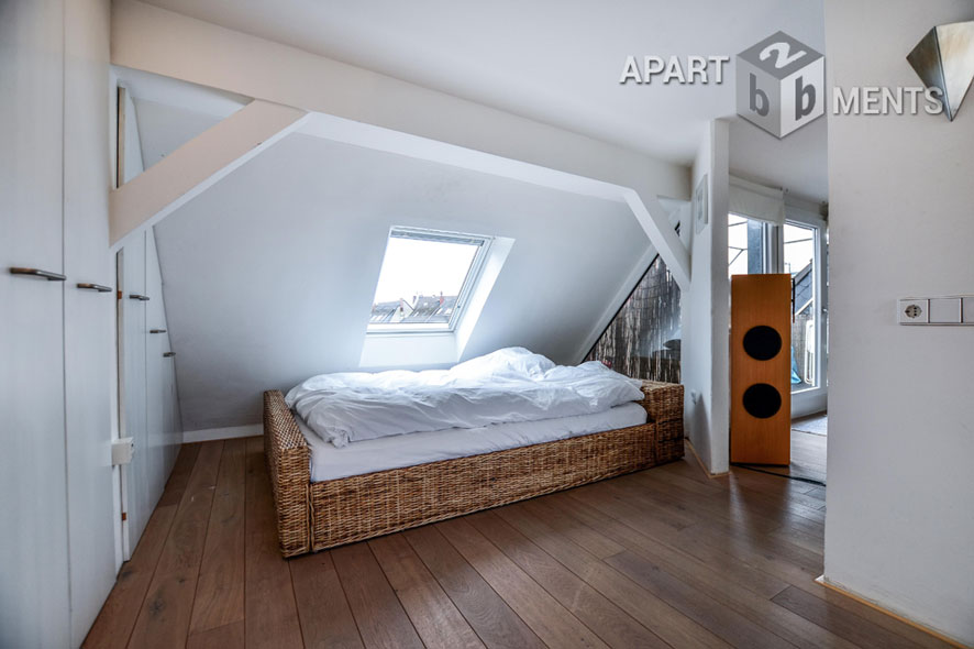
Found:
<svg viewBox="0 0 974 649"><path fill-rule="evenodd" d="M489 243L488 237L394 228L368 332L453 331Z"/></svg>

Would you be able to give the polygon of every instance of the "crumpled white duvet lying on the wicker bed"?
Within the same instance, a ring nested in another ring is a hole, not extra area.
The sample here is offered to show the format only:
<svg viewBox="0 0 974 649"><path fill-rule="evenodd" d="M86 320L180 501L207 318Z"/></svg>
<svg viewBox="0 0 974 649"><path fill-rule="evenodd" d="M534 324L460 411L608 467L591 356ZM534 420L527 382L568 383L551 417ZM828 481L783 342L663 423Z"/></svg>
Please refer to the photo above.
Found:
<svg viewBox="0 0 974 649"><path fill-rule="evenodd" d="M322 439L344 447L410 432L602 413L641 399L640 386L596 361L568 367L508 348L451 370L313 376L288 393L287 404Z"/></svg>

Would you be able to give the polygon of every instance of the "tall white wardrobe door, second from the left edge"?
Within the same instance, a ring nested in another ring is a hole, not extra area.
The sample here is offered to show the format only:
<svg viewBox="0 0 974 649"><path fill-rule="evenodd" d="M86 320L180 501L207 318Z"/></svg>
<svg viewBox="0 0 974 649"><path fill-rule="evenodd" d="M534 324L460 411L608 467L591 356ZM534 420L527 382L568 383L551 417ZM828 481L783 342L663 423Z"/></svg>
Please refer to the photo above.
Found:
<svg viewBox="0 0 974 649"><path fill-rule="evenodd" d="M64 295L64 346L74 646L85 639L115 581L110 381L115 292L108 241L111 162L106 118L109 20L106 0L66 0L64 264L69 280Z"/></svg>

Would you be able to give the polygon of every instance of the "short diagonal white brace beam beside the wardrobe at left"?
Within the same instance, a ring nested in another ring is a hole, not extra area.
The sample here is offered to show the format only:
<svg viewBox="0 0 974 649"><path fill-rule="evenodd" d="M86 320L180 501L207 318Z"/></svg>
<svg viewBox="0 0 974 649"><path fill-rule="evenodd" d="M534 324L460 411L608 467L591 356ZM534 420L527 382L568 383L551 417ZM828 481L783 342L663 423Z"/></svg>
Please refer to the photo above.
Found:
<svg viewBox="0 0 974 649"><path fill-rule="evenodd" d="M111 245L153 226L297 129L308 112L255 99L109 197Z"/></svg>

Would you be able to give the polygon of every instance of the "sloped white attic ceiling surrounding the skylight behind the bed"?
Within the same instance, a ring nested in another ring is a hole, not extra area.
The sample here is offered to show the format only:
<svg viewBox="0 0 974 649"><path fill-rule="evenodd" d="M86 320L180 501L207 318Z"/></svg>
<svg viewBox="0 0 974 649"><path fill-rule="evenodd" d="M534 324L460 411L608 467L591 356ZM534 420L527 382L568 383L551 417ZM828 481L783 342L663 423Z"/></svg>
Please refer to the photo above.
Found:
<svg viewBox="0 0 974 649"><path fill-rule="evenodd" d="M263 391L357 370L392 226L514 240L464 359L577 362L650 248L620 202L289 135L155 227L184 428L257 422Z"/></svg>

